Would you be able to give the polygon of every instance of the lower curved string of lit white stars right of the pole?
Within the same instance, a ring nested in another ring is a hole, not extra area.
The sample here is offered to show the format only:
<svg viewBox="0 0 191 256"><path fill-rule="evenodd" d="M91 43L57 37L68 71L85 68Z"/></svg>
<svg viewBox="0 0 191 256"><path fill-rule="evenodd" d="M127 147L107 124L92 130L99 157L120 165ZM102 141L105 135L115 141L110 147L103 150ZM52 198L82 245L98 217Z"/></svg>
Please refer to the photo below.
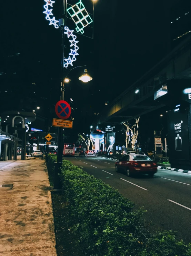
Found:
<svg viewBox="0 0 191 256"><path fill-rule="evenodd" d="M72 36L72 40L69 40L71 43L70 47L74 46L74 48L70 48L69 53L69 55L72 55L72 59L71 56L69 56L68 59L64 58L64 68L67 68L69 64L73 66L72 62L76 61L75 56L79 55L77 53L79 47L77 46L78 41L76 41L77 36L73 35L74 30L70 30L68 27L64 27L64 30L64 34L67 34L68 38Z"/></svg>

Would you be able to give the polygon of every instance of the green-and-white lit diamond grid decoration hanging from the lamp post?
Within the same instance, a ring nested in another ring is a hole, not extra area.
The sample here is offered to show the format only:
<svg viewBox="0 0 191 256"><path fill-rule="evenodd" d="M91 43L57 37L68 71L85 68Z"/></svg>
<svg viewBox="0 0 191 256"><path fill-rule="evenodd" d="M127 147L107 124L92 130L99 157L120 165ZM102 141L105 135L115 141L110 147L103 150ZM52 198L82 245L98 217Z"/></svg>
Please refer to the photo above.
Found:
<svg viewBox="0 0 191 256"><path fill-rule="evenodd" d="M67 12L77 25L76 31L81 32L81 34L84 33L83 28L93 22L81 0L76 5L68 8Z"/></svg>

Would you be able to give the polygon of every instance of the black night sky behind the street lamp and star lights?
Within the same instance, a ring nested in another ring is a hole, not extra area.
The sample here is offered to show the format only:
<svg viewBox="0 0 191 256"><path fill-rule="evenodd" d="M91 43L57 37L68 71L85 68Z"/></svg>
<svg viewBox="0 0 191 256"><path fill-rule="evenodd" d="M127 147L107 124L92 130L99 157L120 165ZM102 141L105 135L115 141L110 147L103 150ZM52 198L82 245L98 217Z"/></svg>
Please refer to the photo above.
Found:
<svg viewBox="0 0 191 256"><path fill-rule="evenodd" d="M53 14L59 19L61 1L55 1ZM88 3L91 0L83 2L91 7ZM0 108L3 110L10 107L8 99L12 99L15 109L22 105L20 98L22 102L23 98L32 98L31 104L40 105L41 116L54 116L54 105L60 96L60 33L45 19L44 3L44 0L1 3ZM84 68L71 71L71 82L66 85L64 96L66 100L73 99L76 121L73 133L87 133L95 119L89 112L102 111L105 101L127 89L170 51L171 4L164 0L95 2L94 39L77 35L79 56L73 63L73 67L87 65L93 80L86 84L78 80ZM68 51L68 42L65 50ZM19 57L16 53L20 53ZM17 74L13 75L14 72Z"/></svg>

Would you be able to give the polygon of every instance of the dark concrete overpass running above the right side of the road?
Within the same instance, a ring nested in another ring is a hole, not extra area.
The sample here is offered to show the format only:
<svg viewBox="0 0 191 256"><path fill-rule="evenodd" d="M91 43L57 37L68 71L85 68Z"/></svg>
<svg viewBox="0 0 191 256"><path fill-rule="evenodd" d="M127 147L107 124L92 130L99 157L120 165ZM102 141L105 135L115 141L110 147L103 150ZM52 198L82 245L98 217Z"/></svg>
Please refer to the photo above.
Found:
<svg viewBox="0 0 191 256"><path fill-rule="evenodd" d="M173 82L177 84L178 80L191 82L191 37L174 48L132 85L128 85L127 78L127 89L100 113L97 124L119 124L165 106L154 100L154 91L164 83L171 83L173 86ZM139 92L135 94L137 88Z"/></svg>

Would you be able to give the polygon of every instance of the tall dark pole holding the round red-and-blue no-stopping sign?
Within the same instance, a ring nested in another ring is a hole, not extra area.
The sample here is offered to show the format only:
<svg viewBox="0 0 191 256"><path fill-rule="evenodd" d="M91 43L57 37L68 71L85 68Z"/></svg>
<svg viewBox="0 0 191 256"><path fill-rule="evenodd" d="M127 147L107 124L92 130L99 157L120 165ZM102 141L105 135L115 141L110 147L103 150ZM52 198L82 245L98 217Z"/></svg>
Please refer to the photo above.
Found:
<svg viewBox="0 0 191 256"><path fill-rule="evenodd" d="M66 21L65 17L65 0L61 1L61 16ZM61 35L61 94L60 100L64 100L64 25L60 26L60 35ZM60 189L62 187L59 172L60 167L62 166L62 156L63 156L63 129L58 127L58 151L57 151L57 164L54 168L54 189Z"/></svg>

